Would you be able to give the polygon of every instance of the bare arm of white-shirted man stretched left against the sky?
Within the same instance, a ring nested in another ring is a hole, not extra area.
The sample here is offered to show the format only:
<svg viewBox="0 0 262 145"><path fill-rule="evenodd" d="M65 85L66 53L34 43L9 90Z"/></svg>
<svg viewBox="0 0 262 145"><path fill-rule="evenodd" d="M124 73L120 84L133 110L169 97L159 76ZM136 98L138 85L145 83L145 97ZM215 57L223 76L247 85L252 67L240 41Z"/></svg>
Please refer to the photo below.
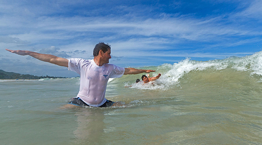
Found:
<svg viewBox="0 0 262 145"><path fill-rule="evenodd" d="M59 66L68 67L68 60L65 58L57 57L54 55L32 52L28 50L10 50L10 49L6 49L6 50L12 53L18 54L18 55L29 55L41 61L49 62L49 63L56 64Z"/></svg>

